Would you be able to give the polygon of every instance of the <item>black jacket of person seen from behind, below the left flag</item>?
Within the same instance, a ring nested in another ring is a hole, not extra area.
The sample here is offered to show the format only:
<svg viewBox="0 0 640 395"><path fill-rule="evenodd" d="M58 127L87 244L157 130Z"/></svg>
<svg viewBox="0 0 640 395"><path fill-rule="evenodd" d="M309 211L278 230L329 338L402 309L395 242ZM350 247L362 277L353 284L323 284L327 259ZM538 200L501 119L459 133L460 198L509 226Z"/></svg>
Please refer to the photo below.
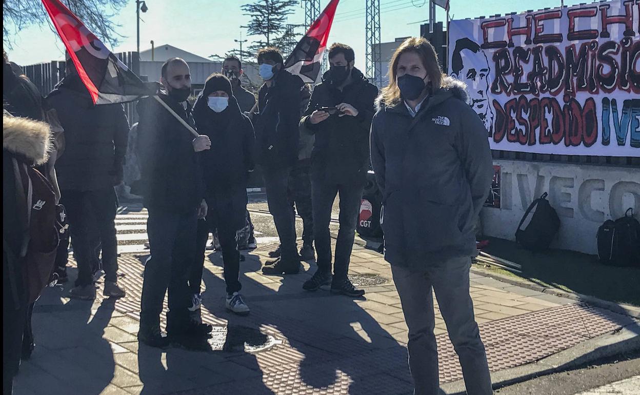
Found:
<svg viewBox="0 0 640 395"><path fill-rule="evenodd" d="M108 188L122 177L129 121L122 104L93 106L77 78L66 77L47 96L65 129L65 151L56 161L58 184L62 190Z"/></svg>

